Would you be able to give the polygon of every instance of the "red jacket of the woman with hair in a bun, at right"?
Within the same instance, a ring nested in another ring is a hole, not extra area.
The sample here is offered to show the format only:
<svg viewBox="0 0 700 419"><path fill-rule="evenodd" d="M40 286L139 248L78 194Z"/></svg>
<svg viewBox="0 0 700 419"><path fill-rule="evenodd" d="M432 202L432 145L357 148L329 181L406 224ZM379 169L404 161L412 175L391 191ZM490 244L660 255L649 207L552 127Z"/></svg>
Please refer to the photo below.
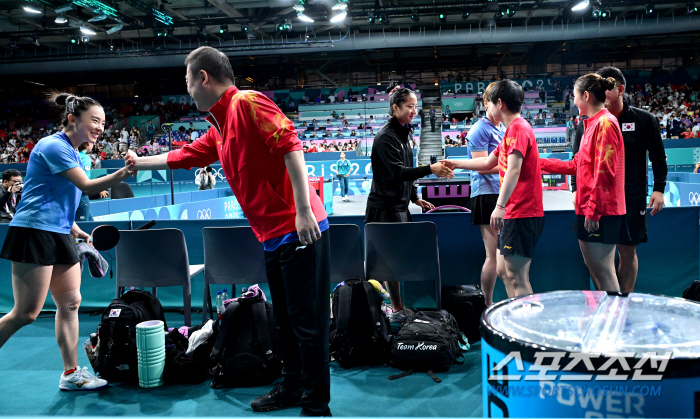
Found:
<svg viewBox="0 0 700 419"><path fill-rule="evenodd" d="M574 158L540 159L542 170L576 175L576 214L593 221L624 215L625 143L620 125L607 109L583 124L581 148Z"/></svg>

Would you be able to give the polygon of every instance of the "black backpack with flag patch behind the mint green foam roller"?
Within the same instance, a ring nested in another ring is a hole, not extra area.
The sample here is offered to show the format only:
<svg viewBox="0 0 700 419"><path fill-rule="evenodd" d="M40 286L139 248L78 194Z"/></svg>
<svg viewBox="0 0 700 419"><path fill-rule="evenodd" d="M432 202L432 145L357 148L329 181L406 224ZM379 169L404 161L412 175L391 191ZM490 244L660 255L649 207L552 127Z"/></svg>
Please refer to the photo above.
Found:
<svg viewBox="0 0 700 419"><path fill-rule="evenodd" d="M95 372L110 381L137 381L136 325L149 320L162 321L167 332L163 307L150 292L129 290L112 300L97 328Z"/></svg>

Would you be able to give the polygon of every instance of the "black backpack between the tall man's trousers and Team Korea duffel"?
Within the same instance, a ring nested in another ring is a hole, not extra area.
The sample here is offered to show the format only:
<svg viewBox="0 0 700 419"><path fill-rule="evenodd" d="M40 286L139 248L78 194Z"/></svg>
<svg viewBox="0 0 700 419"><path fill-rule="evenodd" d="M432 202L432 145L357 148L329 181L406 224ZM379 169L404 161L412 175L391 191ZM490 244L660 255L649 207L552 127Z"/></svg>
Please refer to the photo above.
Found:
<svg viewBox="0 0 700 419"><path fill-rule="evenodd" d="M367 281L351 279L333 291L330 354L342 367L386 363L389 320L381 304Z"/></svg>

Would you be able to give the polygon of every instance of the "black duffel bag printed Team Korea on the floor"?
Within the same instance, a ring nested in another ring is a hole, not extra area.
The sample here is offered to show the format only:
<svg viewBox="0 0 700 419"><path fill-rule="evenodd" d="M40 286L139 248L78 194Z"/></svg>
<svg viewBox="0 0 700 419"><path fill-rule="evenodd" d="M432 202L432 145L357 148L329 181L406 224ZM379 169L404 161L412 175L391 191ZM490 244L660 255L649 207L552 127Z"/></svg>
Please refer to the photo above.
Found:
<svg viewBox="0 0 700 419"><path fill-rule="evenodd" d="M460 341L466 343L454 317L445 310L417 311L409 315L391 342L391 365L408 371L389 379L425 371L439 383L441 380L434 372L446 372L452 364L464 363L459 353Z"/></svg>

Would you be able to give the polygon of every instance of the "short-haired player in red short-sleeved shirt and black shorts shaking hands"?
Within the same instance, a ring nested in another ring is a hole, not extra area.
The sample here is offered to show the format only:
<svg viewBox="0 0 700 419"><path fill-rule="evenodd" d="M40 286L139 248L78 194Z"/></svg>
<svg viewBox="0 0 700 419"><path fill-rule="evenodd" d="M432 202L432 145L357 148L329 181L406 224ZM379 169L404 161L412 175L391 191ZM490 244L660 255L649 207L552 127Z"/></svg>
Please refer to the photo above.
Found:
<svg viewBox="0 0 700 419"><path fill-rule="evenodd" d="M511 80L489 91L492 116L508 127L501 144L488 157L443 163L450 169L486 171L498 166L501 189L491 228L499 230L496 270L512 286L508 297L532 294L530 263L544 227L542 175L535 133L520 117L525 94ZM510 294L513 295L510 295Z"/></svg>

